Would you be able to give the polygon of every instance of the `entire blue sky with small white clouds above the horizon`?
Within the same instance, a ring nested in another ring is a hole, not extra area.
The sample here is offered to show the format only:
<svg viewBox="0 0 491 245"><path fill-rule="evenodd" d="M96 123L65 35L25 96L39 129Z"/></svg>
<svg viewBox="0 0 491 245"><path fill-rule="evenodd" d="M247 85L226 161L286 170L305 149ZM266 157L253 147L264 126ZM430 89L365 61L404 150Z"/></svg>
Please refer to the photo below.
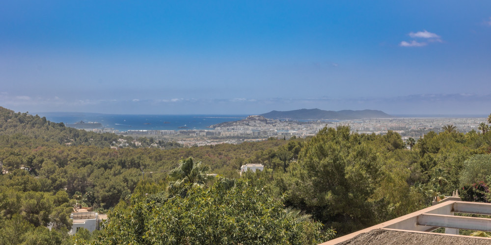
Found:
<svg viewBox="0 0 491 245"><path fill-rule="evenodd" d="M491 112L491 1L25 1L0 8L0 106Z"/></svg>

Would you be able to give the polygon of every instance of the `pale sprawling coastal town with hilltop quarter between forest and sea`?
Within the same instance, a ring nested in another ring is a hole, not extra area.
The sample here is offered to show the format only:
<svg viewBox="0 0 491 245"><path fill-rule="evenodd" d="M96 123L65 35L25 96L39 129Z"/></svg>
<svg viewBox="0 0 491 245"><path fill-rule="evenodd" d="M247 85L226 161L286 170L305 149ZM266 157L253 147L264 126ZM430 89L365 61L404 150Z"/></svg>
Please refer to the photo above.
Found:
<svg viewBox="0 0 491 245"><path fill-rule="evenodd" d="M320 129L349 125L352 132L363 134L385 134L392 130L399 133L404 140L412 137L418 139L429 131L442 131L444 125L454 125L459 132L479 131L479 123L485 118L366 118L359 120L315 120L296 121L269 119L252 115L246 119L218 123L209 129L177 130L128 130L118 131L111 128L85 129L95 132L111 132L134 138L147 137L156 140L177 142L184 146L203 146L215 144L239 144L247 141L262 141L268 138L305 138L315 135ZM155 145L155 147L158 147Z"/></svg>

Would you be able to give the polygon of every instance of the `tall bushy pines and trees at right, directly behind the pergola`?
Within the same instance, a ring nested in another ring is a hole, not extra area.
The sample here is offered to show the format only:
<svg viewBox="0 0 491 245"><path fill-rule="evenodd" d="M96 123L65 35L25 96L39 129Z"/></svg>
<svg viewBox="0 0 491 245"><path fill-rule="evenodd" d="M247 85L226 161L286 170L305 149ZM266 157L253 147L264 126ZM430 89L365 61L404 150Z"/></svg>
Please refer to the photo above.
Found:
<svg viewBox="0 0 491 245"><path fill-rule="evenodd" d="M430 132L411 150L391 131L325 128L269 185L287 195L288 206L343 234L424 208L456 189L465 200L491 201L490 143L489 133Z"/></svg>

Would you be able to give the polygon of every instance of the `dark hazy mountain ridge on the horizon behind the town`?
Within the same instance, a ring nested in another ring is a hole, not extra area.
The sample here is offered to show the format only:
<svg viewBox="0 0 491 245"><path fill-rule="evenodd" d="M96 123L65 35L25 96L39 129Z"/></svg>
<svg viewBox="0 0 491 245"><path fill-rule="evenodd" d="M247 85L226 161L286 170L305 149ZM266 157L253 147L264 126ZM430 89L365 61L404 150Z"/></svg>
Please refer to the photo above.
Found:
<svg viewBox="0 0 491 245"><path fill-rule="evenodd" d="M362 118L393 118L393 116L379 110L342 110L325 111L321 109L300 109L293 111L271 111L260 114L271 119L293 119L293 120L349 120Z"/></svg>

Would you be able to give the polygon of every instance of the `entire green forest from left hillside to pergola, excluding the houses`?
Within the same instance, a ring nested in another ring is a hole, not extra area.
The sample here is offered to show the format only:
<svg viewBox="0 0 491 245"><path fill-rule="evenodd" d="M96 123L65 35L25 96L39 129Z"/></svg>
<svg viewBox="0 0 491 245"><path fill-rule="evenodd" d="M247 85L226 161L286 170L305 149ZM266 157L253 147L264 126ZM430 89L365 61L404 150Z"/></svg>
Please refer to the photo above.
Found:
<svg viewBox="0 0 491 245"><path fill-rule="evenodd" d="M490 202L483 123L408 142L338 126L308 139L116 150L132 139L0 108L0 245L317 244L456 189ZM240 176L246 163L265 171ZM105 228L69 236L77 201L108 213Z"/></svg>

